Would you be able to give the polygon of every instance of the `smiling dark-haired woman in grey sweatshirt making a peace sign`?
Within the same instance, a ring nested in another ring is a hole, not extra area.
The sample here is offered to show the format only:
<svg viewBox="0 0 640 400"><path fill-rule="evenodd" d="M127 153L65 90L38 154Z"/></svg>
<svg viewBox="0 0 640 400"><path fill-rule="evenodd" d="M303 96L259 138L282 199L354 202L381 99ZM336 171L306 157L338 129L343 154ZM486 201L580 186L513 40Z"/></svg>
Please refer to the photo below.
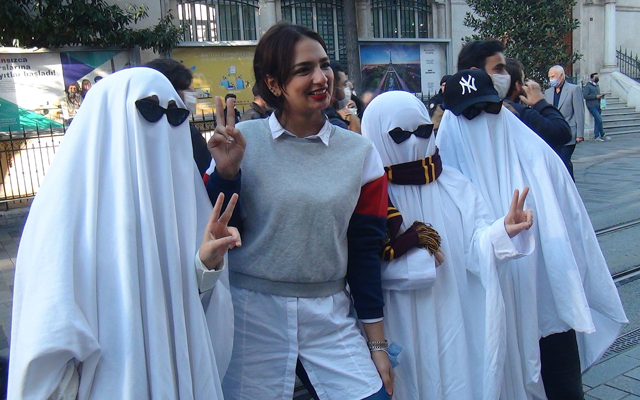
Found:
<svg viewBox="0 0 640 400"><path fill-rule="evenodd" d="M388 400L380 156L371 141L324 116L334 76L316 32L273 26L253 68L275 112L237 128L220 113L208 144L215 164L209 196L239 193L230 224L244 238L229 253L236 332L225 397L291 399L297 371L322 398Z"/></svg>

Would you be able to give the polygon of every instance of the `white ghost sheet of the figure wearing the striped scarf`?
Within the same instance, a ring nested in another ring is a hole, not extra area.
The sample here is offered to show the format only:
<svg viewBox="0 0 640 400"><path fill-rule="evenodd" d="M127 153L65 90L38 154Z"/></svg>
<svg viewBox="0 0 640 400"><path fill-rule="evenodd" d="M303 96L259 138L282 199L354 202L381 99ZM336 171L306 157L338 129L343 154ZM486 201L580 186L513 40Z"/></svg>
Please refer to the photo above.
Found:
<svg viewBox="0 0 640 400"><path fill-rule="evenodd" d="M424 104L406 92L372 100L362 134L389 165L437 157L435 135L395 143L389 131L412 132L431 124ZM504 305L497 269L504 260L531 253L527 231L509 239L504 218L493 222L484 199L460 172L444 166L427 184L394 184L388 194L402 213L401 232L413 221L433 225L445 261L422 248L383 264L385 332L403 346L394 399L485 399L499 396L506 349ZM504 207L504 212L509 207ZM504 214L502 212L502 214Z"/></svg>

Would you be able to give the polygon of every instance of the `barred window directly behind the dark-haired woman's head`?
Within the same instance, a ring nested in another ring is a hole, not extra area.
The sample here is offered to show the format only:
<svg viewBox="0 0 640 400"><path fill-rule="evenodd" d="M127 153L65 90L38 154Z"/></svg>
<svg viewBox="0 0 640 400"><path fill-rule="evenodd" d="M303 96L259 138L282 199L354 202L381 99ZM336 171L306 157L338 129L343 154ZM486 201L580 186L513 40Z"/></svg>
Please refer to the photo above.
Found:
<svg viewBox="0 0 640 400"><path fill-rule="evenodd" d="M346 64L342 0L281 0L280 8L282 19L319 33L328 47L329 57Z"/></svg>

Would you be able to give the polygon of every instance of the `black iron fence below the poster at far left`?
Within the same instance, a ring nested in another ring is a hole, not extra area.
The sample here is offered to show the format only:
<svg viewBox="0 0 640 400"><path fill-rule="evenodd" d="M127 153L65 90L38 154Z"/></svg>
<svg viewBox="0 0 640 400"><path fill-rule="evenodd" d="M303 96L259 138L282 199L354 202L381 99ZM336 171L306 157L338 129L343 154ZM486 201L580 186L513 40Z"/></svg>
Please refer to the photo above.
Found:
<svg viewBox="0 0 640 400"><path fill-rule="evenodd" d="M0 133L0 204L35 196L49 169L65 129Z"/></svg>

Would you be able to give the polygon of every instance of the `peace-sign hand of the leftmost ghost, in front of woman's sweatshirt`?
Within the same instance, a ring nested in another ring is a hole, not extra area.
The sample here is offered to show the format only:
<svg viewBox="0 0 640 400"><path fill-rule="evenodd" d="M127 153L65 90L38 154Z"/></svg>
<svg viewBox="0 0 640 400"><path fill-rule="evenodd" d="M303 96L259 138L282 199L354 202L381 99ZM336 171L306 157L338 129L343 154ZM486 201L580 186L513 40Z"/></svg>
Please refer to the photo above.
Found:
<svg viewBox="0 0 640 400"><path fill-rule="evenodd" d="M204 230L202 244L200 244L199 256L202 263L209 269L214 269L225 256L227 249L242 246L240 234L234 227L228 227L227 224L234 212L238 200L237 193L231 196L227 209L220 215L222 203L225 195L220 193L216 204L213 206L209 222Z"/></svg>

